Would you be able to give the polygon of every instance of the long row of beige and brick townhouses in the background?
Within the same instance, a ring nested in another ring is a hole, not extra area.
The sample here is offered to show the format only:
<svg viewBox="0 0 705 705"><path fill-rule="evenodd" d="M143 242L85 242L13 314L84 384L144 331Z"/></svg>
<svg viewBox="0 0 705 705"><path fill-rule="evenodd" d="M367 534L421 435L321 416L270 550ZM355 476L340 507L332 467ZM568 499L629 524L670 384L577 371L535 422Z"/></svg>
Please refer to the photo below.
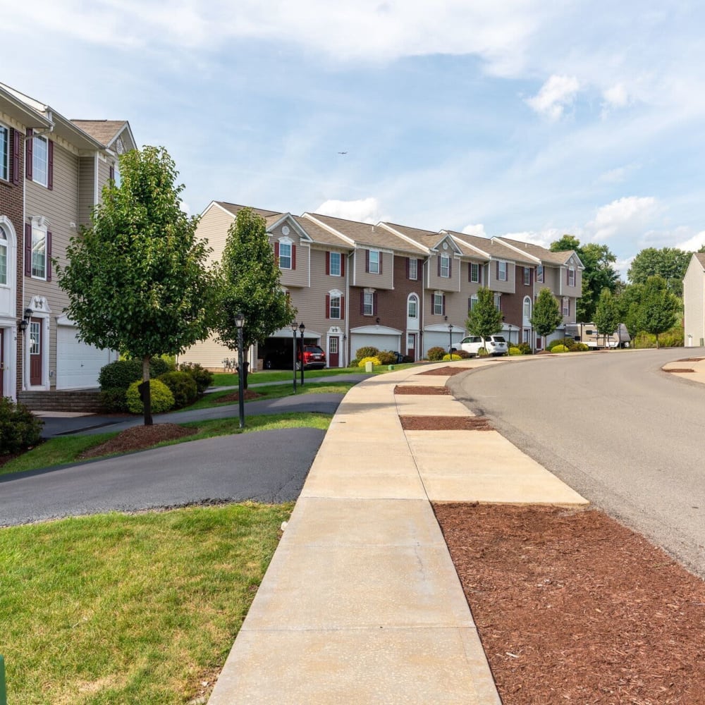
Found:
<svg viewBox="0 0 705 705"><path fill-rule="evenodd" d="M212 202L198 234L220 259L241 205ZM320 345L329 367L345 367L372 345L420 360L429 348L448 348L467 335L467 313L480 287L494 292L509 341L540 347L531 317L541 288L563 312L551 338L575 322L582 263L575 252L551 252L508 238L427 231L398 223L360 223L333 216L253 209L264 217L281 270L281 286L305 324L306 343ZM298 339L298 338L297 338ZM290 326L250 350L251 369L292 360ZM233 351L213 336L180 358L221 369Z"/></svg>

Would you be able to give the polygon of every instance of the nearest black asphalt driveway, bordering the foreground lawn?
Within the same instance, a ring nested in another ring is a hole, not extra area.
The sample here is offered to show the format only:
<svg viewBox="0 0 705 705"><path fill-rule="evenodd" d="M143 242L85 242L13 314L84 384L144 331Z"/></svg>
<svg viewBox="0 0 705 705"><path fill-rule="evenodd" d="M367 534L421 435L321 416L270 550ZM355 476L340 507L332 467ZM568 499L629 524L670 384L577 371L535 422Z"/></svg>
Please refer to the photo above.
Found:
<svg viewBox="0 0 705 705"><path fill-rule="evenodd" d="M0 477L0 526L208 501L295 500L325 436L281 429L219 436Z"/></svg>

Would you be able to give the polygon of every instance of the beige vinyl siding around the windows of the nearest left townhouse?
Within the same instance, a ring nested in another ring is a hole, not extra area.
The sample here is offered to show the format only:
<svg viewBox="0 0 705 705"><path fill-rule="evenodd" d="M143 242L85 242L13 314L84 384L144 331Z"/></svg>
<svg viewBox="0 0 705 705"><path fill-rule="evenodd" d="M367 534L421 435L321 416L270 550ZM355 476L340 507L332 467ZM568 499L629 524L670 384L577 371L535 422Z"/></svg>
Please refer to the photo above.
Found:
<svg viewBox="0 0 705 705"><path fill-rule="evenodd" d="M71 223L78 223L78 157L59 144L54 143L54 188L48 188L25 179L26 214L44 216L49 221L47 230L51 233L51 254L61 264L66 264L66 246L72 235L77 233ZM68 296L56 283L56 267L51 267L52 281L24 277L25 290L23 307L33 296L47 299L51 318L49 324L49 384L56 386L56 318L68 306Z"/></svg>

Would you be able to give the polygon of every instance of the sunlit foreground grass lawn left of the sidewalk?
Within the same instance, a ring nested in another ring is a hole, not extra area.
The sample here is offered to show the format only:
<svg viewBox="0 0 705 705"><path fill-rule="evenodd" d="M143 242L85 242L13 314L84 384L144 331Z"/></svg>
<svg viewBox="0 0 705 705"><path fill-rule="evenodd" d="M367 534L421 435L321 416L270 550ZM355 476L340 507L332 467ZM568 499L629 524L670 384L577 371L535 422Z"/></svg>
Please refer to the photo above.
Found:
<svg viewBox="0 0 705 705"><path fill-rule="evenodd" d="M247 503L0 529L8 702L173 705L207 693L292 508Z"/></svg>

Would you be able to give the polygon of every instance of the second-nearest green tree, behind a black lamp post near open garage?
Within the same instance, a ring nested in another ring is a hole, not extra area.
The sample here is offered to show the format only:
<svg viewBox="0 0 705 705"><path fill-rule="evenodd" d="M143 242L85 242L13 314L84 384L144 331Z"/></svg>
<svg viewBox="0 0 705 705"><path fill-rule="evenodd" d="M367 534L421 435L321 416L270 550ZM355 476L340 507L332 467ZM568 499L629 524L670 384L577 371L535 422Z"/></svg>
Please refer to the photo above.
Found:
<svg viewBox="0 0 705 705"><path fill-rule="evenodd" d="M218 340L238 350L235 316L242 313L243 354L255 343L288 326L296 315L279 281L281 272L266 234L266 221L251 208L235 215L220 263ZM247 365L240 370L247 387Z"/></svg>

